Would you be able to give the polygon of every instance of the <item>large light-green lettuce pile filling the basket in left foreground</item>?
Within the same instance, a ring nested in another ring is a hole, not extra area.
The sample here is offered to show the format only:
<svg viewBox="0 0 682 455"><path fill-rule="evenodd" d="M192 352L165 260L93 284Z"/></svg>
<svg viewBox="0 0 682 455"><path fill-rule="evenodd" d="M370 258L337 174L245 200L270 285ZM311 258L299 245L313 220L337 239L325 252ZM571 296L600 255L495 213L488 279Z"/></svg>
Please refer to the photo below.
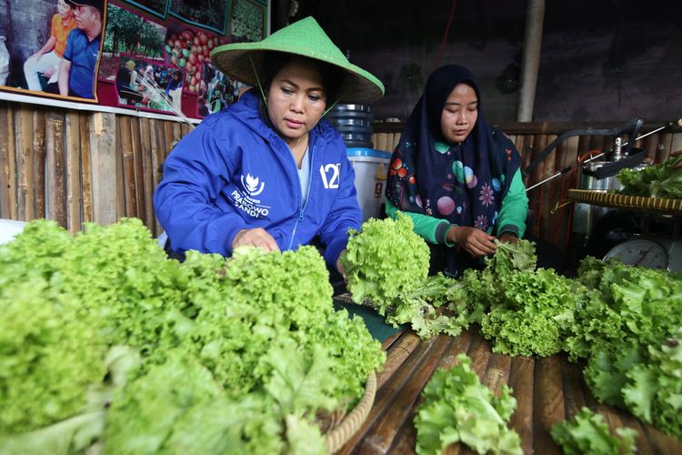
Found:
<svg viewBox="0 0 682 455"><path fill-rule="evenodd" d="M0 452L324 453L386 359L316 248L165 257L137 219L0 246ZM49 397L49 399L45 399ZM27 444L30 444L28 446Z"/></svg>

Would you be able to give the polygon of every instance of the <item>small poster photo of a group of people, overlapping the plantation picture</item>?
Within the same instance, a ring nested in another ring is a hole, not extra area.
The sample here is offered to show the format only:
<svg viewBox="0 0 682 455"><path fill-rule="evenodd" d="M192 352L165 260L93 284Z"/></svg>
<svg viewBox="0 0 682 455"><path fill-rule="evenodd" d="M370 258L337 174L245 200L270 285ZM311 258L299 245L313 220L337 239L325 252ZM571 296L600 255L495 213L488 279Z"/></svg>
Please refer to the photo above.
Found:
<svg viewBox="0 0 682 455"><path fill-rule="evenodd" d="M115 86L118 106L177 112L180 110L183 74L153 60L121 56Z"/></svg>

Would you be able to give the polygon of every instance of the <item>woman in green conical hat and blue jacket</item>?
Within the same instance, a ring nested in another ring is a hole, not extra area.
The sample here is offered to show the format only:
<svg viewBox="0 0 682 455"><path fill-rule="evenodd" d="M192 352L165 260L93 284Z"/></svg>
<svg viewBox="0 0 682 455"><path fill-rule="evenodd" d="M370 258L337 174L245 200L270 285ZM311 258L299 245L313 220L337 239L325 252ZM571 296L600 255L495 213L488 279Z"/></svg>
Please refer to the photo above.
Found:
<svg viewBox="0 0 682 455"><path fill-rule="evenodd" d="M169 247L229 256L244 245L296 249L319 236L327 264L338 267L362 214L346 145L323 117L338 102L376 101L384 86L312 17L260 42L217 47L211 61L252 88L165 160L154 204Z"/></svg>

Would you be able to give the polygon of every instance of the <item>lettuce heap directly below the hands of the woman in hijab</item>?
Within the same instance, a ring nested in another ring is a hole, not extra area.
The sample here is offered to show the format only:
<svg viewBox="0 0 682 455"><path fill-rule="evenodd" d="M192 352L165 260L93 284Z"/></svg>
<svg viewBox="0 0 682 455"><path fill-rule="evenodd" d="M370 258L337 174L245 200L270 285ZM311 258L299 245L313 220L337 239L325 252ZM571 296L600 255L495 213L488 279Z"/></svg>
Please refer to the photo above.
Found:
<svg viewBox="0 0 682 455"><path fill-rule="evenodd" d="M483 270L466 270L450 298L466 308L469 323L479 323L493 351L542 357L563 350L573 312L583 305L586 289L552 269L536 270L535 244L496 240L495 254Z"/></svg>

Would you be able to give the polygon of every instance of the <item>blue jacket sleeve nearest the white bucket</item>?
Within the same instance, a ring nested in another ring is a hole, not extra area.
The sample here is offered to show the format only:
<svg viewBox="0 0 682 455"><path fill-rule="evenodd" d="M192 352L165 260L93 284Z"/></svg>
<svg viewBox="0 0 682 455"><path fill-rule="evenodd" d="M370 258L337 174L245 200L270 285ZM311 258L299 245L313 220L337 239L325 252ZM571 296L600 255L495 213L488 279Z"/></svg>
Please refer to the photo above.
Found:
<svg viewBox="0 0 682 455"><path fill-rule="evenodd" d="M341 141L340 137L338 141ZM348 229L359 230L362 224L362 210L357 204L356 173L346 157L346 147L339 147L343 149L343 156L340 159L338 191L320 229L320 240L326 246L326 263L333 267L336 267L336 259L341 251L346 249Z"/></svg>

